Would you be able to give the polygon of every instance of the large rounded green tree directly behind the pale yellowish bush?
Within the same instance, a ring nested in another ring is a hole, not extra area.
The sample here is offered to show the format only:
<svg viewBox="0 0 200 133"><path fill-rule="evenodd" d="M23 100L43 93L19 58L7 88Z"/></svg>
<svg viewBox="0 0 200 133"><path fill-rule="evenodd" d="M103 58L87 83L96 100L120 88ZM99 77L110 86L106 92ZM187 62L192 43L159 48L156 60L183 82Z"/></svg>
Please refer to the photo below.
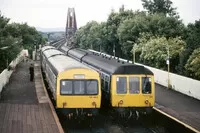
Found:
<svg viewBox="0 0 200 133"><path fill-rule="evenodd" d="M132 45L127 41L137 43L141 33L150 33L152 36L164 36L175 38L183 36L185 26L182 21L174 17L165 17L162 14L147 15L144 12L136 12L134 17L122 22L117 34L122 51L126 58L131 59Z"/></svg>

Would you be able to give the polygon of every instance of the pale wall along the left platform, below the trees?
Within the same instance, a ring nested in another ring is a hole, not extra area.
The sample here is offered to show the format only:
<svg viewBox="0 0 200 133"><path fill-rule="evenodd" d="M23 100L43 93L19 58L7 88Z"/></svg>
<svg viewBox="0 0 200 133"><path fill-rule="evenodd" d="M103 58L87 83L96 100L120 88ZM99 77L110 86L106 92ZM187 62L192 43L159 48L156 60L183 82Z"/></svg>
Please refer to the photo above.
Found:
<svg viewBox="0 0 200 133"><path fill-rule="evenodd" d="M12 68L15 68L17 66L17 64L24 59L24 56L28 56L28 50L22 50L18 54L17 58L9 64L9 66L11 66ZM1 72L1 74L0 74L0 93L3 89L3 87L9 82L9 78L13 71L14 70L4 69Z"/></svg>

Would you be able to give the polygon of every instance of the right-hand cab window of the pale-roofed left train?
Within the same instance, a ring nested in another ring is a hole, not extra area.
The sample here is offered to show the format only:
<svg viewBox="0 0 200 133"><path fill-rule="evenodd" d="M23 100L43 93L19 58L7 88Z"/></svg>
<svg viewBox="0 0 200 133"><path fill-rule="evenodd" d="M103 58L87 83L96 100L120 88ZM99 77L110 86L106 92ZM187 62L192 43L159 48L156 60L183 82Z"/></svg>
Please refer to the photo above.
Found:
<svg viewBox="0 0 200 133"><path fill-rule="evenodd" d="M87 94L98 94L98 84L95 80L86 81Z"/></svg>

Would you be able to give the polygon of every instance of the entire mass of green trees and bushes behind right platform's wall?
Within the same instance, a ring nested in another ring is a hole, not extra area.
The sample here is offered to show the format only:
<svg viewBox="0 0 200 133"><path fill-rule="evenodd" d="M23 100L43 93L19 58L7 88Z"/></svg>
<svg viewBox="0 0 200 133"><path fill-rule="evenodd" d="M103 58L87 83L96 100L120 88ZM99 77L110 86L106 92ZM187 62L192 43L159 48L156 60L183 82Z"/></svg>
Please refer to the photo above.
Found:
<svg viewBox="0 0 200 133"><path fill-rule="evenodd" d="M142 0L142 5L145 11L122 6L106 22L88 22L76 32L77 45L129 60L135 51L136 62L163 70L169 49L172 72L200 79L200 20L184 25L170 0Z"/></svg>

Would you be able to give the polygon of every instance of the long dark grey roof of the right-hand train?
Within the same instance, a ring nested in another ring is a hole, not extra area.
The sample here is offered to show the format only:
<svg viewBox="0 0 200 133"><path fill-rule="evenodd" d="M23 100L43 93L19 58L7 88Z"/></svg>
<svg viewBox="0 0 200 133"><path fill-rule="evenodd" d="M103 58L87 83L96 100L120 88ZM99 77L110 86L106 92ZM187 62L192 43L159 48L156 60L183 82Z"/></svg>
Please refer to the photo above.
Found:
<svg viewBox="0 0 200 133"><path fill-rule="evenodd" d="M120 61L112 56L105 56L105 54L98 54L80 48L71 49L62 47L63 51L68 51L68 55L81 60L82 62L94 67L97 70L103 71L107 74L145 74L153 75L153 72L148 68L135 65L129 62Z"/></svg>

